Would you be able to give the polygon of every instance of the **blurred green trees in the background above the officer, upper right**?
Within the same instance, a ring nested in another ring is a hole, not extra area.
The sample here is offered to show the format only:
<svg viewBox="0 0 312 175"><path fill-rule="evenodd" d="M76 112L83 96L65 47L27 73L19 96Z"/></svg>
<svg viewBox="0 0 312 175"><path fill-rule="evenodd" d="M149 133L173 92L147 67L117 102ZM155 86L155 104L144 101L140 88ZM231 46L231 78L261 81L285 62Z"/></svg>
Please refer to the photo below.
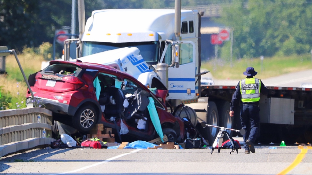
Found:
<svg viewBox="0 0 312 175"><path fill-rule="evenodd" d="M312 44L311 8L305 0L238 0L216 20L233 28L236 57L304 54Z"/></svg>

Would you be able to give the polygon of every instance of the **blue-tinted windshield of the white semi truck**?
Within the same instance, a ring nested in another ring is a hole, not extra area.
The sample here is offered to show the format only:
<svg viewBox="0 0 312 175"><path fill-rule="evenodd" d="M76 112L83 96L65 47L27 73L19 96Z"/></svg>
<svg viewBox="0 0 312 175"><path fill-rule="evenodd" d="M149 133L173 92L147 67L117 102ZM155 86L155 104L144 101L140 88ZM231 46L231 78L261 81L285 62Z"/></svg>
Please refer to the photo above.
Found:
<svg viewBox="0 0 312 175"><path fill-rule="evenodd" d="M140 50L140 54L149 65L157 64L158 59L158 41L149 42L129 42L129 43L106 43L106 42L94 42L84 41L82 44L82 56L88 56L107 50L113 50L123 47L137 47Z"/></svg>

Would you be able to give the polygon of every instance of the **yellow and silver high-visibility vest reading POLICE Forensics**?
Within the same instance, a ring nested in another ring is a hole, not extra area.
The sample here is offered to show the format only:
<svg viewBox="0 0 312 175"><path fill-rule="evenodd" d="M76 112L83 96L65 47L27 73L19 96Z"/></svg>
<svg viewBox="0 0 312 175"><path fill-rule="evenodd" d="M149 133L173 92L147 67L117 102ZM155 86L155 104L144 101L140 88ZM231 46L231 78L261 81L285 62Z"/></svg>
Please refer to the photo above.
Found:
<svg viewBox="0 0 312 175"><path fill-rule="evenodd" d="M261 80L245 78L239 82L242 102L258 102L260 100Z"/></svg>

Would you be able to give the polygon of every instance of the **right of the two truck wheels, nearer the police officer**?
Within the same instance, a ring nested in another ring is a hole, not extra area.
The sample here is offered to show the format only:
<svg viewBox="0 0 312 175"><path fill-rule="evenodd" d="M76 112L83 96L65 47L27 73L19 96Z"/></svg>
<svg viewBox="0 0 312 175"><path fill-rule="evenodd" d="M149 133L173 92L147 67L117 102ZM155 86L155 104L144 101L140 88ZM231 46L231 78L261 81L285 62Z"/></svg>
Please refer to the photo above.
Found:
<svg viewBox="0 0 312 175"><path fill-rule="evenodd" d="M220 126L233 129L234 119L230 116L230 107L231 105L229 102L221 101L220 103L218 103L218 114L220 119ZM227 130L227 132L232 137L234 131ZM223 142L228 139L229 138L227 138L227 136L225 135L225 137L223 138Z"/></svg>

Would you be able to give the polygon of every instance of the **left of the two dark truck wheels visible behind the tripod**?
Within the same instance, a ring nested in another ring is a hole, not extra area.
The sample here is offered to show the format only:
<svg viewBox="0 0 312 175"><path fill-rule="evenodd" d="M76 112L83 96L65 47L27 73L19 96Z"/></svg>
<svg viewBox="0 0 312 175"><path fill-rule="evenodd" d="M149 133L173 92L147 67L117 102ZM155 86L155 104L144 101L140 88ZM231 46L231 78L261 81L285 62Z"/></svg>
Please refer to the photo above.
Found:
<svg viewBox="0 0 312 175"><path fill-rule="evenodd" d="M218 109L215 102L208 102L209 107L207 111L207 124L219 126L219 115ZM208 140L209 144L212 145L218 135L219 129L215 127L203 128L202 136L205 140Z"/></svg>

